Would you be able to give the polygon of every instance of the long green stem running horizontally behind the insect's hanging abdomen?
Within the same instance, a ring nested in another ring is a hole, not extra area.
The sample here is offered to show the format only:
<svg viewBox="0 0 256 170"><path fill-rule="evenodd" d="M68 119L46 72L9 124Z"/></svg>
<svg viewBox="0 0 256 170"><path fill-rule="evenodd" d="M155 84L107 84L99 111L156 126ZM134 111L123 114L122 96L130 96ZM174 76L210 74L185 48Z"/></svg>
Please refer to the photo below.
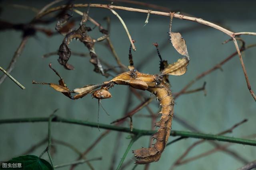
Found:
<svg viewBox="0 0 256 170"><path fill-rule="evenodd" d="M2 119L0 120L0 124L4 123L25 123L25 122L48 122L48 117L36 117L36 118L17 118L17 119ZM82 121L77 119L66 119L62 117L54 117L52 122L63 122L63 123L71 123L77 125L84 125L90 127L98 127L98 123L89 122L89 121ZM126 127L118 127L113 125L106 125L106 124L99 124L99 127L102 129L110 129L114 131L132 133L135 135L152 135L156 131L150 130L140 130L140 129L133 129L130 131L130 128ZM195 132L188 132L188 131L174 131L172 130L170 133L171 136L181 136L181 137L192 137L198 139L206 139L206 140L215 140L215 141L225 141L230 143L239 143L243 145L252 145L256 146L256 140L249 140L249 139L242 139L242 138L234 138L234 137L226 137L220 135L210 135L210 134L203 134L203 133L195 133Z"/></svg>

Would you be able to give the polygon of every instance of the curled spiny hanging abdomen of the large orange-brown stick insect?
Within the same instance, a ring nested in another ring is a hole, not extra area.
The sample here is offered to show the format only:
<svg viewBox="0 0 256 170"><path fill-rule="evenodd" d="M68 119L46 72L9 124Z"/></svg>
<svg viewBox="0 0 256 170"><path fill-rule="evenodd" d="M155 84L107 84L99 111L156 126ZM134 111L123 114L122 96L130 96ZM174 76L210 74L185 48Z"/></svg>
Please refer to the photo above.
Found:
<svg viewBox="0 0 256 170"><path fill-rule="evenodd" d="M155 123L155 126L159 129L152 135L152 138L156 140L156 143L154 144L154 147L132 151L137 158L136 164L148 164L150 162L158 161L170 136L174 100L168 86L164 83L161 83L160 86L162 86L162 88L147 89L149 92L156 95L160 102L160 106L162 107L159 112L161 115L160 121Z"/></svg>

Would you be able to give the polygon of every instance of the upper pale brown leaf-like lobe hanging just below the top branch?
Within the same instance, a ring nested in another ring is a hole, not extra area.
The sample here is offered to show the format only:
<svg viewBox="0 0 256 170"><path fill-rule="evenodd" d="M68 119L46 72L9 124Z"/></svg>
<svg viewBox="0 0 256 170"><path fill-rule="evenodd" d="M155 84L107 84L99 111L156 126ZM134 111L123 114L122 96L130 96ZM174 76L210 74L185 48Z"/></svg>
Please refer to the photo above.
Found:
<svg viewBox="0 0 256 170"><path fill-rule="evenodd" d="M173 47L180 53L181 55L184 55L186 57L188 56L188 50L186 46L186 41L182 38L180 33L174 33L174 32L169 32L172 45Z"/></svg>

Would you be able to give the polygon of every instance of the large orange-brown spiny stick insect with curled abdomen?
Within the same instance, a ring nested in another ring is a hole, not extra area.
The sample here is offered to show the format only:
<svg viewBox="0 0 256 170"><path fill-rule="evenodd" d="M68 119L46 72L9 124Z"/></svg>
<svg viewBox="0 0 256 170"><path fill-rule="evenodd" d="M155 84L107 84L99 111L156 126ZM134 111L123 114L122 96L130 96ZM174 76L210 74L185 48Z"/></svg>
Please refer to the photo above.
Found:
<svg viewBox="0 0 256 170"><path fill-rule="evenodd" d="M158 46L154 44L157 47ZM130 46L131 49L131 46ZM177 62L172 64L165 64L162 61L160 53L158 51L158 56L160 57L160 73L158 74L144 74L139 72L133 65L132 53L129 49L129 71L117 75L112 80L103 82L101 84L90 84L82 88L76 88L74 90L69 90L69 88L64 83L63 78L54 70L51 65L50 67L54 72L60 77L59 85L53 83L38 83L34 84L48 84L55 90L62 92L65 96L68 96L72 100L83 98L87 94L92 94L93 98L98 100L111 98L109 89L114 87L114 85L126 85L131 86L139 90L147 90L154 94L157 100L160 102L162 107L161 111L158 113L161 115L160 121L154 123L155 127L158 127L158 131L152 135L153 139L156 139L153 147L141 148L133 150L134 156L136 157L136 164L148 164L150 162L157 162L165 148L165 145L170 136L170 130L172 125L172 117L174 114L174 99L172 97L172 92L170 86L167 82L168 75L180 76L184 74L187 70L189 63L188 57L182 57L178 59ZM161 67L162 66L162 67ZM75 96L71 96L71 93L77 93Z"/></svg>

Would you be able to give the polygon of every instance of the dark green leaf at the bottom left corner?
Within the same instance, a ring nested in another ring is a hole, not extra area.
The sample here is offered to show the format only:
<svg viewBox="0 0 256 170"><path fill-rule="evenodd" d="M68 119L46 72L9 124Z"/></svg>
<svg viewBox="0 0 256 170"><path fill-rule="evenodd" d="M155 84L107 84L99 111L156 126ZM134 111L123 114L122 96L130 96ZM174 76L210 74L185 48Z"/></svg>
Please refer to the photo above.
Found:
<svg viewBox="0 0 256 170"><path fill-rule="evenodd" d="M49 162L35 155L25 155L12 158L10 161L24 161L24 170L52 170Z"/></svg>

